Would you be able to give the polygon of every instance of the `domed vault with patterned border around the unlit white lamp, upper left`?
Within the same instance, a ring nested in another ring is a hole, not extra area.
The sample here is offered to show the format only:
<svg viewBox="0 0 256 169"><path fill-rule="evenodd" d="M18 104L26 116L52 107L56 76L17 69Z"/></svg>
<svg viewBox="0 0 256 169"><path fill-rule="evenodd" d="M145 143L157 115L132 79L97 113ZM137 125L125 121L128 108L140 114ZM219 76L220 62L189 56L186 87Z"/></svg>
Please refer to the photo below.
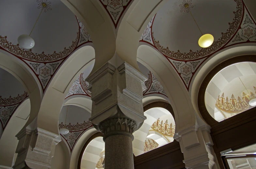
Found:
<svg viewBox="0 0 256 169"><path fill-rule="evenodd" d="M0 50L22 60L35 73L43 92L68 56L92 45L83 24L60 0L8 0L0 6ZM35 46L25 50L17 38L30 33L41 11L31 33Z"/></svg>

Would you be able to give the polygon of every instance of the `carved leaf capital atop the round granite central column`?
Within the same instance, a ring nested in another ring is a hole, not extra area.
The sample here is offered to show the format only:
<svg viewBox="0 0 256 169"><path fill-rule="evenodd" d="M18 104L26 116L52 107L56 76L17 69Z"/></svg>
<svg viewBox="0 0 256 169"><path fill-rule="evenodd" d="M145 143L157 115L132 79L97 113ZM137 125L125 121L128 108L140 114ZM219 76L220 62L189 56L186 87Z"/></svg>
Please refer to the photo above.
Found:
<svg viewBox="0 0 256 169"><path fill-rule="evenodd" d="M128 135L133 140L134 137L132 133L135 132L137 128L135 121L125 117L108 119L99 124L99 130L104 134L104 141L108 136L116 134Z"/></svg>

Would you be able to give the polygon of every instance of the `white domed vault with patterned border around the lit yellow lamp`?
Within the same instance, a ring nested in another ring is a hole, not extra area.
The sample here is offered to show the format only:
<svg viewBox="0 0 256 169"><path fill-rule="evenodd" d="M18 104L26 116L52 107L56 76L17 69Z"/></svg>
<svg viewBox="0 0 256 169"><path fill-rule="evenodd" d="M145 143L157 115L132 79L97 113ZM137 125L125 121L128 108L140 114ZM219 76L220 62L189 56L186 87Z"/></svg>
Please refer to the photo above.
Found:
<svg viewBox="0 0 256 169"><path fill-rule="evenodd" d="M210 47L198 45L201 33L184 4L189 4L202 32L214 36ZM151 45L158 50L189 90L204 61L233 45L253 45L255 30L255 20L242 0L175 0L168 1L150 20L140 45Z"/></svg>

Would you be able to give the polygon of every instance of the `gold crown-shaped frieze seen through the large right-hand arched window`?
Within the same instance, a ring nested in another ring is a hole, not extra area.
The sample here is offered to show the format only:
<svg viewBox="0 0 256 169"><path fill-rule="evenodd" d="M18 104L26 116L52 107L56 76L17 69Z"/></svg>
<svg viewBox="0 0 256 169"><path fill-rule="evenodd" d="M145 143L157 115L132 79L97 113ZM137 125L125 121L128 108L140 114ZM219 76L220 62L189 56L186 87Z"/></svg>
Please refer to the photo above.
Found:
<svg viewBox="0 0 256 169"><path fill-rule="evenodd" d="M254 87L254 90L256 91L256 87ZM245 110L255 107L249 105L249 99L253 97L255 98L254 93L250 92L250 95L251 96L248 96L246 93L243 92L242 99L239 96L237 97L237 99L235 99L234 95L232 94L231 99L229 99L228 97L225 98L223 93L221 97L218 96L215 105L219 110L227 113L241 113Z"/></svg>

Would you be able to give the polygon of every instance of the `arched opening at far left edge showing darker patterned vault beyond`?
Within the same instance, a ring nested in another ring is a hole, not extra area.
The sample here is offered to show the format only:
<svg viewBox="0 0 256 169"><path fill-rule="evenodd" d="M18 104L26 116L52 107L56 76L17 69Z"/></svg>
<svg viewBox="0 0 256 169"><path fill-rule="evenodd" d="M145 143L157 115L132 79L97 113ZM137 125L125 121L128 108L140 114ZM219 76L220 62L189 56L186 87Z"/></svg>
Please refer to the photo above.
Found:
<svg viewBox="0 0 256 169"><path fill-rule="evenodd" d="M11 167L18 145L16 134L30 114L30 100L23 85L0 68L0 164Z"/></svg>

